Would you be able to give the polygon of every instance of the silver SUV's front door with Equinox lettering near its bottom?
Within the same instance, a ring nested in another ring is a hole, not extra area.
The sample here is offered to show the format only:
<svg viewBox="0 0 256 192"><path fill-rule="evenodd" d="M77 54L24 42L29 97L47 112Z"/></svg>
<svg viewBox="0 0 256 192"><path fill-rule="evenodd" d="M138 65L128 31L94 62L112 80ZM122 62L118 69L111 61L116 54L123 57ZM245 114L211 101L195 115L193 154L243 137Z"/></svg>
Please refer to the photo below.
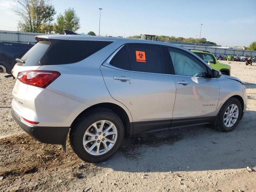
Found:
<svg viewBox="0 0 256 192"><path fill-rule="evenodd" d="M208 77L206 64L178 48L168 48L174 70L176 100L173 119L206 118L214 116L219 100L216 78ZM173 120L172 126L175 125Z"/></svg>

